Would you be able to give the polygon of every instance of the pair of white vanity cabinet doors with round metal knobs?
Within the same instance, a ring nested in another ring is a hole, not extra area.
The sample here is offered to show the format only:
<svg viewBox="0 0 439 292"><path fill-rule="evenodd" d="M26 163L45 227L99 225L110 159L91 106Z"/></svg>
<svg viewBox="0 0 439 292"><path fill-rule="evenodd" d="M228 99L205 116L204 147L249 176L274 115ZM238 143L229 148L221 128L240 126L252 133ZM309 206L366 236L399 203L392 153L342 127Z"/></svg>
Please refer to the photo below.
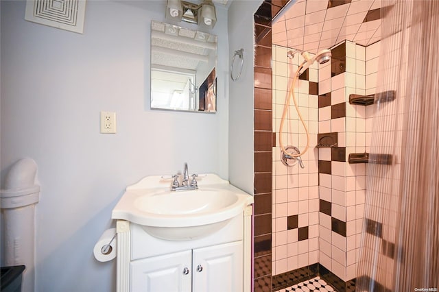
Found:
<svg viewBox="0 0 439 292"><path fill-rule="evenodd" d="M242 248L235 241L133 260L130 291L241 291Z"/></svg>

